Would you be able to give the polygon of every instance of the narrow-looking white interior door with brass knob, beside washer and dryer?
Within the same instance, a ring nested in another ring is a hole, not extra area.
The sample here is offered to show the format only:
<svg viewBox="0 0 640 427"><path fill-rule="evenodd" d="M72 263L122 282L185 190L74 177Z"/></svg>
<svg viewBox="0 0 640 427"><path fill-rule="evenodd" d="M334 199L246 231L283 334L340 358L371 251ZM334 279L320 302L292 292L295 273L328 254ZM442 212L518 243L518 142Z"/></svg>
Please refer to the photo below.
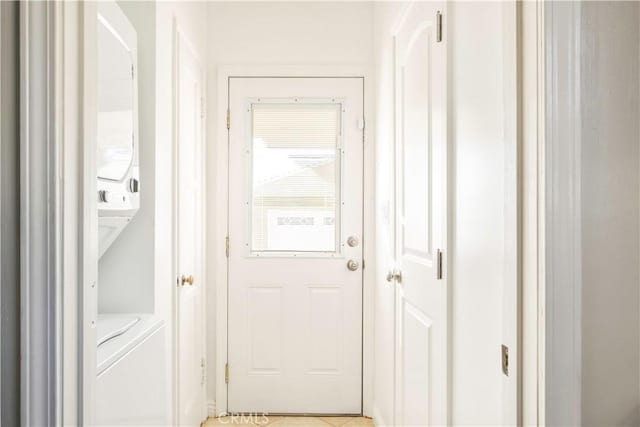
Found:
<svg viewBox="0 0 640 427"><path fill-rule="evenodd" d="M181 34L177 60L177 374L178 424L199 426L204 414L202 249L202 69Z"/></svg>

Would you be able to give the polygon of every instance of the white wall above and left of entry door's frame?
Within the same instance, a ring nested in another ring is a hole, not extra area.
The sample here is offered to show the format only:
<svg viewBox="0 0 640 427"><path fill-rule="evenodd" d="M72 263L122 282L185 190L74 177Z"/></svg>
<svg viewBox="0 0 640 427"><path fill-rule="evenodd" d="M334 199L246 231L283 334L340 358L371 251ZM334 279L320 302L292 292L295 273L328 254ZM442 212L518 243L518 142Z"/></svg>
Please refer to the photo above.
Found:
<svg viewBox="0 0 640 427"><path fill-rule="evenodd" d="M373 5L365 2L211 2L207 13L208 108L207 212L216 201L217 159L212 147L220 143L217 79L221 65L358 65L371 67ZM222 94L224 95L224 94ZM367 98L365 90L365 98ZM226 143L226 141L222 141ZM224 237L208 227L209 291L207 298L207 399L215 397L215 257L224 251ZM369 265L369 261L367 261Z"/></svg>

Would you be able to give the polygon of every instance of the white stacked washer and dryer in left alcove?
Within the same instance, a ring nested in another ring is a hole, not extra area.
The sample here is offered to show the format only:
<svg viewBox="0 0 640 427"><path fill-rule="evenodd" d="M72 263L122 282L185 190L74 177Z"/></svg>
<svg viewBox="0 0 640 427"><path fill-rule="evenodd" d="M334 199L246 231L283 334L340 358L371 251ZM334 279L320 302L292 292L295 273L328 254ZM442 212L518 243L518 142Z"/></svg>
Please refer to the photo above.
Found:
<svg viewBox="0 0 640 427"><path fill-rule="evenodd" d="M98 3L96 30L102 257L140 208L138 70L136 30L115 1ZM166 424L163 322L153 313L98 313L96 345L96 424Z"/></svg>

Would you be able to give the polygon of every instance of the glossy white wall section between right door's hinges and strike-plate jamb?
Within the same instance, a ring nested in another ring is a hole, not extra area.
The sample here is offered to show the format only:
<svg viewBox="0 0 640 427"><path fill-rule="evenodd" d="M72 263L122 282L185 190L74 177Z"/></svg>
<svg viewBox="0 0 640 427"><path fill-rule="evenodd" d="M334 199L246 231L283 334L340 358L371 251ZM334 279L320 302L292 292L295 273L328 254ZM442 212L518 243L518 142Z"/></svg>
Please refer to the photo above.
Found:
<svg viewBox="0 0 640 427"><path fill-rule="evenodd" d="M454 425L502 420L504 271L502 6L452 2L450 137L453 159Z"/></svg>

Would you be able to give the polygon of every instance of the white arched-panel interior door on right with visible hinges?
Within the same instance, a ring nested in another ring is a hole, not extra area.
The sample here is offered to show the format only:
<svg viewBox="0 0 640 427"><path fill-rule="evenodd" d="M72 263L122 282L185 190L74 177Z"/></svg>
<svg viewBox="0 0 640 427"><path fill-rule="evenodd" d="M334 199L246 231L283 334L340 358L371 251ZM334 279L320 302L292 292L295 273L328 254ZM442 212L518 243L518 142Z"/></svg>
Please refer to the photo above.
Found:
<svg viewBox="0 0 640 427"><path fill-rule="evenodd" d="M443 2L415 2L396 43L396 425L448 425Z"/></svg>

